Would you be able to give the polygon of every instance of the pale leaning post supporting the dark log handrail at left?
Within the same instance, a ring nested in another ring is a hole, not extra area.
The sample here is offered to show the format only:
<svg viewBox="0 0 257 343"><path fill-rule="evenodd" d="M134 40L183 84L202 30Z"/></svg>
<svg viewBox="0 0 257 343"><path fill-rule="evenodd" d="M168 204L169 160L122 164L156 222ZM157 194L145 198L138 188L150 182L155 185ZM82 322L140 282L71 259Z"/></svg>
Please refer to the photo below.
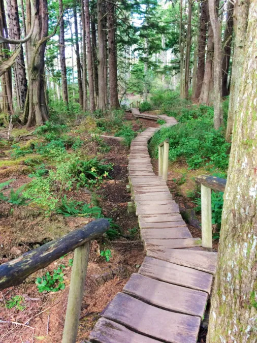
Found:
<svg viewBox="0 0 257 343"><path fill-rule="evenodd" d="M90 242L75 249L62 343L75 343L84 294Z"/></svg>

